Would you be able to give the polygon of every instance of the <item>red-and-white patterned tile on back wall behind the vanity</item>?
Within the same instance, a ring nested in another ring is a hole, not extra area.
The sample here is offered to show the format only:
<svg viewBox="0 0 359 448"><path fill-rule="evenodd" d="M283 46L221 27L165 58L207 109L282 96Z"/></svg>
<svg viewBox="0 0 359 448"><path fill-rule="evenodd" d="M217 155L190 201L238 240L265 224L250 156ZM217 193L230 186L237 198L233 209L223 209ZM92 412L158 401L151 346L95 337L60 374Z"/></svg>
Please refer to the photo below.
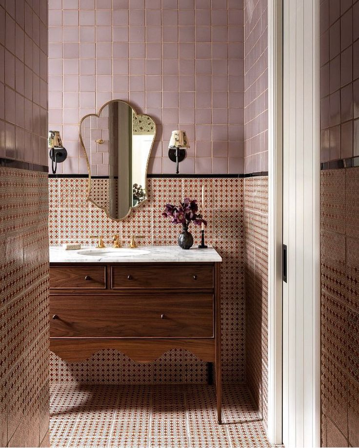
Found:
<svg viewBox="0 0 359 448"><path fill-rule="evenodd" d="M142 245L177 244L180 226L161 216L167 203L178 203L184 197L197 199L208 220L206 243L222 256L221 309L223 333L223 380L245 380L245 303L243 179L150 178L147 180L148 201L129 216L116 222L103 210L86 201L88 179L49 179L50 245L79 242L90 245L90 235L102 234L106 244L118 233L124 245L133 234L143 235ZM195 244L200 241L200 227L191 226ZM152 364L137 364L118 352L95 357L83 363L66 363L57 357L50 362L50 376L56 382L91 382L111 384L206 382L207 366L183 351L171 351Z"/></svg>

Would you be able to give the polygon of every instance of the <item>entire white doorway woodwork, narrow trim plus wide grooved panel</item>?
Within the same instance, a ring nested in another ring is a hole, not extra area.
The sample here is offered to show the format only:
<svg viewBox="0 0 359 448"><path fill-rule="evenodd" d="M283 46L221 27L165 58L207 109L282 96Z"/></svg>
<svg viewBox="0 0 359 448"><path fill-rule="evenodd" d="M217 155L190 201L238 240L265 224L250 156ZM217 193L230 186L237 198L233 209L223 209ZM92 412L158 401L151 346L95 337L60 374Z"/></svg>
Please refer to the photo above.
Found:
<svg viewBox="0 0 359 448"><path fill-rule="evenodd" d="M268 80L268 437L319 447L319 0L268 0Z"/></svg>

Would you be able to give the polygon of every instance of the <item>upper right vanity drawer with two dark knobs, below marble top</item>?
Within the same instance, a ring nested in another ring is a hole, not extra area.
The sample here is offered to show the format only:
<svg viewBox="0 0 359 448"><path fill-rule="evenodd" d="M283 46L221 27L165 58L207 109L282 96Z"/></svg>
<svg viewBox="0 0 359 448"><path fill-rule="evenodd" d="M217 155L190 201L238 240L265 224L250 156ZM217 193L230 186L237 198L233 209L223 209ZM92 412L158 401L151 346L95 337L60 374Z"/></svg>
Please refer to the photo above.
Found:
<svg viewBox="0 0 359 448"><path fill-rule="evenodd" d="M213 266L141 266L134 263L128 266L112 266L111 288L212 289Z"/></svg>

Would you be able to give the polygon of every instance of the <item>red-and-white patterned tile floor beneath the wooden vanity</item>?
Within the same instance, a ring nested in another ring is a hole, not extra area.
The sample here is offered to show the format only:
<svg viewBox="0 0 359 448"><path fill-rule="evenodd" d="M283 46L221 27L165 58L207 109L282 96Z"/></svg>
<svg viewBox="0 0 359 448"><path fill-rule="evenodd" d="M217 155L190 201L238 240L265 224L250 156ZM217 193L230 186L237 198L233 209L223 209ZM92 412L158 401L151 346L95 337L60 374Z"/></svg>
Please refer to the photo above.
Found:
<svg viewBox="0 0 359 448"><path fill-rule="evenodd" d="M52 447L269 447L244 385L54 385Z"/></svg>

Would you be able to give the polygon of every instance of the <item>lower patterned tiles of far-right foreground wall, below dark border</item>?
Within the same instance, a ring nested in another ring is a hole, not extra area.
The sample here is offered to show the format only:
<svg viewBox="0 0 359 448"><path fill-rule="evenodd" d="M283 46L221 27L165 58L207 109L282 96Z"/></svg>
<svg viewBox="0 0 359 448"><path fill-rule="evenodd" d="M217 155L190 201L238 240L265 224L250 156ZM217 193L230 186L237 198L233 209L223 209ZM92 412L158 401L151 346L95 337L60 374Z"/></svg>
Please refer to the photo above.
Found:
<svg viewBox="0 0 359 448"><path fill-rule="evenodd" d="M359 440L358 192L359 168L321 171L321 437L327 446Z"/></svg>

